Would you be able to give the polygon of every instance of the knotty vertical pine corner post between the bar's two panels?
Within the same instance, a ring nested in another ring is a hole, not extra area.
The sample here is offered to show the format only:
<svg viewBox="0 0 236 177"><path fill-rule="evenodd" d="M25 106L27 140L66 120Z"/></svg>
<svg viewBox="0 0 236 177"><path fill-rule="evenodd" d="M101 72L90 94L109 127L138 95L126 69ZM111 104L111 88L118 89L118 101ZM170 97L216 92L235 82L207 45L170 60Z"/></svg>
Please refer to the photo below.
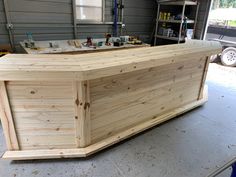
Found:
<svg viewBox="0 0 236 177"><path fill-rule="evenodd" d="M89 81L73 82L77 147L91 143Z"/></svg>

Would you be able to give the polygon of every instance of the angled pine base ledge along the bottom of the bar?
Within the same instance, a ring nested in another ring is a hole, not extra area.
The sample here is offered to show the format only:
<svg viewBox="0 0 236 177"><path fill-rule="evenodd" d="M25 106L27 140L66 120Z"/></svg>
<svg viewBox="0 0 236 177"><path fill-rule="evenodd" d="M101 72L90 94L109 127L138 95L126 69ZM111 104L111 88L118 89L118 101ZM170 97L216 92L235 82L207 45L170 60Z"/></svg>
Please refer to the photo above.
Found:
<svg viewBox="0 0 236 177"><path fill-rule="evenodd" d="M189 103L185 106L176 108L168 113L154 117L144 123L129 128L121 133L106 138L98 143L92 144L85 148L78 149L52 149L52 150L24 150L24 151L7 151L4 153L4 159L12 160L29 160L29 159L54 159L54 158L76 158L86 157L96 153L106 147L109 147L117 142L120 142L126 138L129 138L135 134L138 134L144 130L147 130L155 125L163 123L169 119L172 119L180 114L183 114L191 109L194 109L208 100L208 88L205 86L203 98L195 102Z"/></svg>

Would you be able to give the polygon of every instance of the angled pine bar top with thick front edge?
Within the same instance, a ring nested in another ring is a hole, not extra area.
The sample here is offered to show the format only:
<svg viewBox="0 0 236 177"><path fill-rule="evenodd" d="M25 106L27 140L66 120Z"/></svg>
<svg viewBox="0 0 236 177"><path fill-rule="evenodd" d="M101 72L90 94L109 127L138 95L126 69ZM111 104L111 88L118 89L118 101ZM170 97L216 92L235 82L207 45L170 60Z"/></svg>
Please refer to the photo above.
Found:
<svg viewBox="0 0 236 177"><path fill-rule="evenodd" d="M208 57L221 52L215 41L80 55L8 54L0 58L0 80L90 80Z"/></svg>

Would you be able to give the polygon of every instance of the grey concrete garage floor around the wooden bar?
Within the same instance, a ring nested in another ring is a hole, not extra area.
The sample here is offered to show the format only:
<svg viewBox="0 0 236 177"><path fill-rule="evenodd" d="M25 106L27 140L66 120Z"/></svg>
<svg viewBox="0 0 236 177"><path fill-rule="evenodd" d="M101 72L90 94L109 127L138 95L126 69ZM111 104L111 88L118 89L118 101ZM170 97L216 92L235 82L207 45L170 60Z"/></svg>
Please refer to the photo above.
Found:
<svg viewBox="0 0 236 177"><path fill-rule="evenodd" d="M86 159L1 159L0 176L206 176L236 156L236 68L210 64L207 83L209 102L203 107ZM1 127L0 142L2 154L6 146Z"/></svg>

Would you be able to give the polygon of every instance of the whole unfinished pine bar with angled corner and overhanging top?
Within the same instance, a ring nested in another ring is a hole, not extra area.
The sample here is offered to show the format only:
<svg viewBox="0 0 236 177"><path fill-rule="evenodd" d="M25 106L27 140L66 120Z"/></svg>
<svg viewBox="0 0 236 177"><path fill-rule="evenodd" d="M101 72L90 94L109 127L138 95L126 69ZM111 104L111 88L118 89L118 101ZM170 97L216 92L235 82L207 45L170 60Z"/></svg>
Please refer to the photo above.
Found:
<svg viewBox="0 0 236 177"><path fill-rule="evenodd" d="M13 160L86 157L207 101L217 42L0 58L0 117Z"/></svg>

